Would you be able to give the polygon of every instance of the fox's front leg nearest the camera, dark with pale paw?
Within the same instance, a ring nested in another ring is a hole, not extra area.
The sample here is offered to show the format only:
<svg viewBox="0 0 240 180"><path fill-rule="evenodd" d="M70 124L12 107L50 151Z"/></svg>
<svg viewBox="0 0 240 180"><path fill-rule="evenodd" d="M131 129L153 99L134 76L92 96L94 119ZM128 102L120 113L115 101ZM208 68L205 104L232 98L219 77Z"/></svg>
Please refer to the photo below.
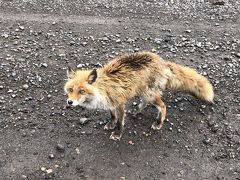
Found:
<svg viewBox="0 0 240 180"><path fill-rule="evenodd" d="M110 139L112 140L120 140L123 133L124 127L124 105L120 105L116 108L117 122L115 131L112 132Z"/></svg>

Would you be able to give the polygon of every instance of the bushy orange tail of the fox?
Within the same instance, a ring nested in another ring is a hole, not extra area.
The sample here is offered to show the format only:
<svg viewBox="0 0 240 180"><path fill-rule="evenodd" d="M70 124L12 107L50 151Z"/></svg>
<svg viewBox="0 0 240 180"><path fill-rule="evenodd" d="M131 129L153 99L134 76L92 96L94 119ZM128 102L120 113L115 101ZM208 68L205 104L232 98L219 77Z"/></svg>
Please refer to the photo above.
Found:
<svg viewBox="0 0 240 180"><path fill-rule="evenodd" d="M172 62L167 62L167 66L173 74L169 78L169 89L187 91L200 99L213 102L213 87L207 78L197 73L194 69Z"/></svg>

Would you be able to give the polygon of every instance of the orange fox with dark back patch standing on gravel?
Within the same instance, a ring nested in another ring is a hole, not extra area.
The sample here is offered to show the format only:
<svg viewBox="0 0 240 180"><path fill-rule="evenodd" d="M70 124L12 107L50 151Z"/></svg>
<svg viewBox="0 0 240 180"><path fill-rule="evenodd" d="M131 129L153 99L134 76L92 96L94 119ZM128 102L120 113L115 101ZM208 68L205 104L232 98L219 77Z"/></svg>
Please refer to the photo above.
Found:
<svg viewBox="0 0 240 180"><path fill-rule="evenodd" d="M121 139L125 105L135 96L141 99L137 113L147 104L157 108L156 121L151 126L153 130L161 129L166 119L163 92L183 91L207 102L213 102L214 98L213 86L206 77L190 67L163 60L148 51L117 56L100 68L68 68L64 90L69 106L80 105L110 112L110 121L104 129L113 130L112 140Z"/></svg>

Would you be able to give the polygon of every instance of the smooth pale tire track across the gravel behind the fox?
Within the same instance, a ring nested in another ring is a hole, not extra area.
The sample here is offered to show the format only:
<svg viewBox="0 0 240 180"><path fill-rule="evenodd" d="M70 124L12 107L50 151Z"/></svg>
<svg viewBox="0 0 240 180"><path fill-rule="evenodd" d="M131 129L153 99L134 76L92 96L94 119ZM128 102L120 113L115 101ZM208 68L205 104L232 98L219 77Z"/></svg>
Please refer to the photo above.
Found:
<svg viewBox="0 0 240 180"><path fill-rule="evenodd" d="M99 17L99 16L76 16L76 15L52 15L52 14L28 14L28 13L4 13L0 12L1 21L25 21L25 22L39 22L39 23L53 23L53 22L63 22L70 24L96 24L96 25L108 25L108 26L145 26L149 28L160 28L160 29L176 29L185 30L186 28L191 27L195 30L207 30L214 29L214 31L222 31L227 29L231 32L239 32L240 23L233 24L232 22L226 23L223 22L218 27L216 27L211 22L196 22L192 24L182 24L181 22L174 21L167 24L161 24L160 21L156 22L150 19L133 19L128 17L119 17L119 18L109 18L109 17ZM240 20L238 20L240 22ZM163 22L162 22L163 23Z"/></svg>

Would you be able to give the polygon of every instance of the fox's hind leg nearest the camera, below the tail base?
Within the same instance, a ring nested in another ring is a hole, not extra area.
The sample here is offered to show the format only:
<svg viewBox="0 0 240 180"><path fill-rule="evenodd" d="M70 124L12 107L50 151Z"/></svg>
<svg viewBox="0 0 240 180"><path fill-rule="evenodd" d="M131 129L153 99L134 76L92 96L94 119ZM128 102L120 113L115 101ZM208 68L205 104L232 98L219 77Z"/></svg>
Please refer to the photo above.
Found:
<svg viewBox="0 0 240 180"><path fill-rule="evenodd" d="M166 118L166 105L161 99L160 95L156 95L152 100L152 104L158 109L157 121L153 123L152 129L159 130L163 126L163 122Z"/></svg>

